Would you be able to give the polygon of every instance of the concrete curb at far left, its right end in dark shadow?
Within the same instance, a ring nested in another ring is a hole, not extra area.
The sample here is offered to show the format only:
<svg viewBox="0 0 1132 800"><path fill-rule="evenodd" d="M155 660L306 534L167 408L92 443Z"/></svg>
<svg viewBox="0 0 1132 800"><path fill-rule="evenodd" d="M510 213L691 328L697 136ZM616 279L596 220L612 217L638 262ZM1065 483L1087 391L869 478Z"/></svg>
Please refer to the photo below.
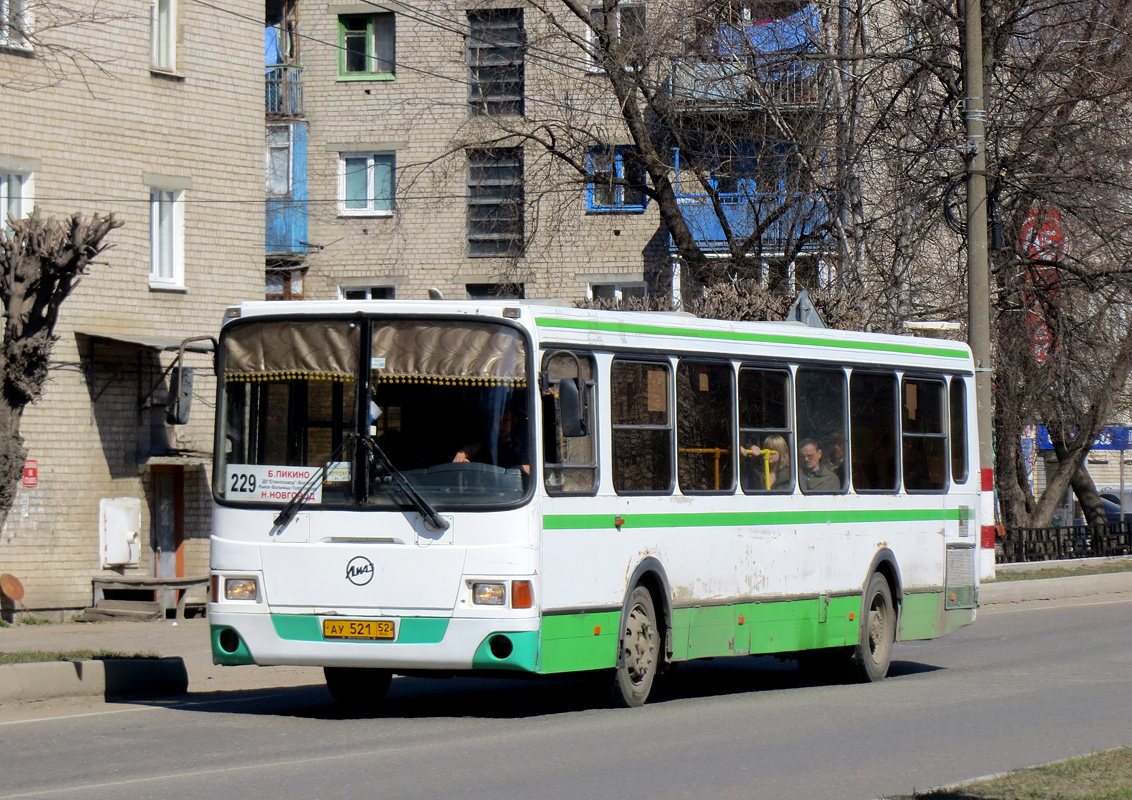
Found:
<svg viewBox="0 0 1132 800"><path fill-rule="evenodd" d="M164 697L188 690L189 673L180 657L0 665L0 705L59 697Z"/></svg>

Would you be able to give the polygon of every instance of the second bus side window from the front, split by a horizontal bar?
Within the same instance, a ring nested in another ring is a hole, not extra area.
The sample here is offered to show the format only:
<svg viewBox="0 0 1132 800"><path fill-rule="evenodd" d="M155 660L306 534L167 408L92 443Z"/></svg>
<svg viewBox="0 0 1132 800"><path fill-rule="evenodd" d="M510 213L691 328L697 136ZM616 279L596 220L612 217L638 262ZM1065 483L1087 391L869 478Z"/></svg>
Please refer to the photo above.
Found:
<svg viewBox="0 0 1132 800"><path fill-rule="evenodd" d="M610 372L614 489L661 494L672 490L671 372L667 363L615 361Z"/></svg>

